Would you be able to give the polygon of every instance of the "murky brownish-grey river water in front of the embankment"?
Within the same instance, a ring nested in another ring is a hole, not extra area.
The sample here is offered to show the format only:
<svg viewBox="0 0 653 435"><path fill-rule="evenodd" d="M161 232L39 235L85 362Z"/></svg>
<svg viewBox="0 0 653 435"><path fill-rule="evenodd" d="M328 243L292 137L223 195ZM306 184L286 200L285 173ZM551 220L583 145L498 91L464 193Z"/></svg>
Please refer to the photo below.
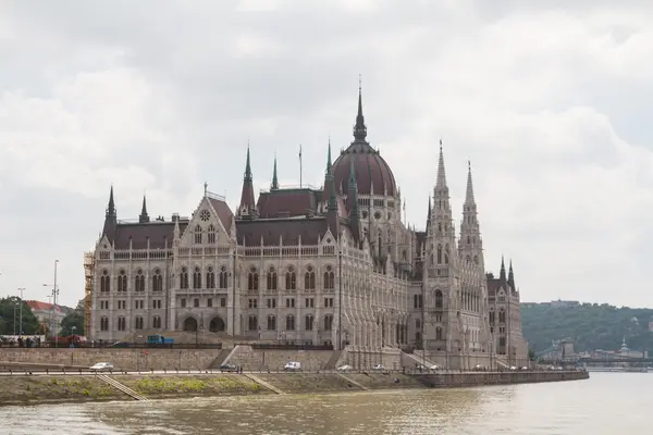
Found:
<svg viewBox="0 0 653 435"><path fill-rule="evenodd" d="M653 373L330 395L0 408L0 434L597 434L653 431Z"/></svg>

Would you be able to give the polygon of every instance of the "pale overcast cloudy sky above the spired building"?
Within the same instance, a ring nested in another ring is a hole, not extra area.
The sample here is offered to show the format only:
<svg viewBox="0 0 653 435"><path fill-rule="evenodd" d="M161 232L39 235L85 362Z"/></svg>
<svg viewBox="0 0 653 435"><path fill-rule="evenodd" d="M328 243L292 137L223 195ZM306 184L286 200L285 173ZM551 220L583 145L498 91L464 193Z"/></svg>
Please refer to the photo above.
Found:
<svg viewBox="0 0 653 435"><path fill-rule="evenodd" d="M618 4L617 4L618 3ZM535 5L537 4L537 5ZM545 7L544 7L545 5ZM320 185L329 136L368 139L423 228L444 140L471 159L485 247L522 300L653 307L653 3L603 0L0 3L0 291L83 297L109 187L119 217Z"/></svg>

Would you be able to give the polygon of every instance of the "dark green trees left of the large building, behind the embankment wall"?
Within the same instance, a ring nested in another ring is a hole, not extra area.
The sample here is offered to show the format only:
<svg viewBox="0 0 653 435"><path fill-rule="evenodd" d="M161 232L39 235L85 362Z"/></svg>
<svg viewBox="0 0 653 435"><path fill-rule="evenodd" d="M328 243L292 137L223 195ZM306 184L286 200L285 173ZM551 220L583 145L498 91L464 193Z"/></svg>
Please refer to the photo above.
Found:
<svg viewBox="0 0 653 435"><path fill-rule="evenodd" d="M21 322L22 306L22 322ZM0 299L0 335L50 335L48 321L39 322L25 300L17 296ZM84 335L84 312L75 310L62 319L58 335Z"/></svg>

